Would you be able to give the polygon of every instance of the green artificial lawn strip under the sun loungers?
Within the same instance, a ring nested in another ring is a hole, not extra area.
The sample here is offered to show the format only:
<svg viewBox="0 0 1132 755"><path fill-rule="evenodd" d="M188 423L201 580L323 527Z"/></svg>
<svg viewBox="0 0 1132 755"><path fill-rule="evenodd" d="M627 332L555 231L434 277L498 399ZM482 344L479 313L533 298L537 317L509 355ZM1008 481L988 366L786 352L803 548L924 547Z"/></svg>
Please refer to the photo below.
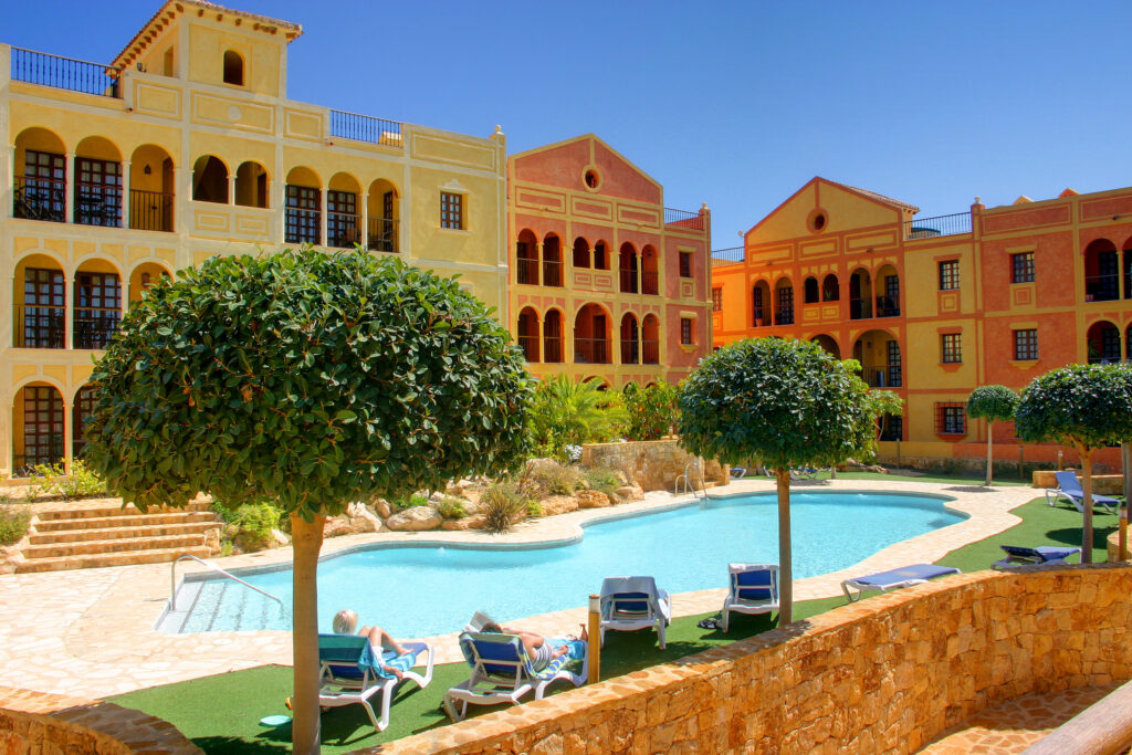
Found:
<svg viewBox="0 0 1132 755"><path fill-rule="evenodd" d="M954 478L945 478L944 481L957 482ZM989 568L1003 557L1000 544L1080 546L1081 515L1065 504L1050 508L1045 498L1037 498L1015 508L1013 513L1023 520L1020 524L954 550L937 563L959 567L963 572L977 572ZM1106 538L1116 524L1115 516L1095 513L1095 563L1106 560ZM800 601L795 603L795 618L801 620L843 606L844 602L844 598ZM601 653L602 678L684 658L774 626L769 616L735 616L731 619L731 630L724 636L718 629L701 629L696 626L700 619L707 616L714 615L674 619L667 633L668 647L663 651L657 649L654 632L610 633ZM325 712L324 752L344 753L371 747L447 723L447 718L439 710L441 696L448 687L466 679L468 672L469 668L464 663L437 666L432 684L428 688L418 689L413 684L402 685L393 703L389 728L381 733L374 731L360 705ZM566 683L555 685L556 690L569 688L572 687ZM290 726L266 728L259 726L259 719L286 714L289 711L283 701L290 694L291 668L265 666L140 689L111 700L119 705L145 711L172 722L207 753L283 753L290 749ZM374 700L376 702L378 698ZM488 710L494 709L480 710L473 706L472 715Z"/></svg>

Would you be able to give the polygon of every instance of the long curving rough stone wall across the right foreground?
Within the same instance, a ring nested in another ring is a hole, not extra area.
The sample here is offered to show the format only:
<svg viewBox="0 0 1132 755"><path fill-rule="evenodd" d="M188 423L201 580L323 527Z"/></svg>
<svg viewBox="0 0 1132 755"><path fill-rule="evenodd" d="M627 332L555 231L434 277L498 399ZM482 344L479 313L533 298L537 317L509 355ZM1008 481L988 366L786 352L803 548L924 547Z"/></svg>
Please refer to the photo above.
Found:
<svg viewBox="0 0 1132 755"><path fill-rule="evenodd" d="M1130 619L1130 565L957 575L380 752L914 753L1021 695L1129 679Z"/></svg>

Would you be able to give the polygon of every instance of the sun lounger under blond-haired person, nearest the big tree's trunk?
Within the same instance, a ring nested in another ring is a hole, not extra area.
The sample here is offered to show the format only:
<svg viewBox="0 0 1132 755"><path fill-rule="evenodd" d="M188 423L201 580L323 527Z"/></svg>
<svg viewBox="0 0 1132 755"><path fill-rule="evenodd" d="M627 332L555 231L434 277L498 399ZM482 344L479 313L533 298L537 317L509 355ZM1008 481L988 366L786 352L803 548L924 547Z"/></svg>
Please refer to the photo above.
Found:
<svg viewBox="0 0 1132 755"><path fill-rule="evenodd" d="M403 679L415 681L421 688L432 680L432 649L422 642L403 643L409 652L404 655L381 653L370 645L369 637L349 634L318 635L318 662L320 666L320 689L318 704L323 709L342 705L361 705L366 709L374 728L384 731L389 726L389 705L393 690L400 680L381 668L392 666L401 671ZM412 671L417 658L427 653L424 675ZM374 713L370 697L381 695L381 718Z"/></svg>

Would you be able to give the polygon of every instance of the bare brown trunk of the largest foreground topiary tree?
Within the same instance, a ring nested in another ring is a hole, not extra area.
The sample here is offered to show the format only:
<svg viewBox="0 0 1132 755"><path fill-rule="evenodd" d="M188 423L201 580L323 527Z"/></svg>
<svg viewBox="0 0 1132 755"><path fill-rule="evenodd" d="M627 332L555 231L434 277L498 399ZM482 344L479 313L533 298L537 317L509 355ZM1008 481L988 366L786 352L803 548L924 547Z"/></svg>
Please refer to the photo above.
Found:
<svg viewBox="0 0 1132 755"><path fill-rule="evenodd" d="M323 524L318 515L307 522L291 514L291 544L294 549L294 608L291 633L294 653L294 696L291 707L291 748L295 755L319 752L318 710L318 551L323 547Z"/></svg>

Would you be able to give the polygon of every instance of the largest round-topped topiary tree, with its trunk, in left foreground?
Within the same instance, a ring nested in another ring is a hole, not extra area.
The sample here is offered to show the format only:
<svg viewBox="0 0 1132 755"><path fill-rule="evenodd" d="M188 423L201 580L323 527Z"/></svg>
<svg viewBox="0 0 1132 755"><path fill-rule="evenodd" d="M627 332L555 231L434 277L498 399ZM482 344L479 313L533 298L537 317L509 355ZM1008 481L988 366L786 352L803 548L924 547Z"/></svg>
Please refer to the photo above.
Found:
<svg viewBox="0 0 1132 755"><path fill-rule="evenodd" d="M529 377L455 280L360 250L214 257L163 282L95 367L87 458L139 507L273 500L294 548L294 752L319 748L327 515L513 464Z"/></svg>

